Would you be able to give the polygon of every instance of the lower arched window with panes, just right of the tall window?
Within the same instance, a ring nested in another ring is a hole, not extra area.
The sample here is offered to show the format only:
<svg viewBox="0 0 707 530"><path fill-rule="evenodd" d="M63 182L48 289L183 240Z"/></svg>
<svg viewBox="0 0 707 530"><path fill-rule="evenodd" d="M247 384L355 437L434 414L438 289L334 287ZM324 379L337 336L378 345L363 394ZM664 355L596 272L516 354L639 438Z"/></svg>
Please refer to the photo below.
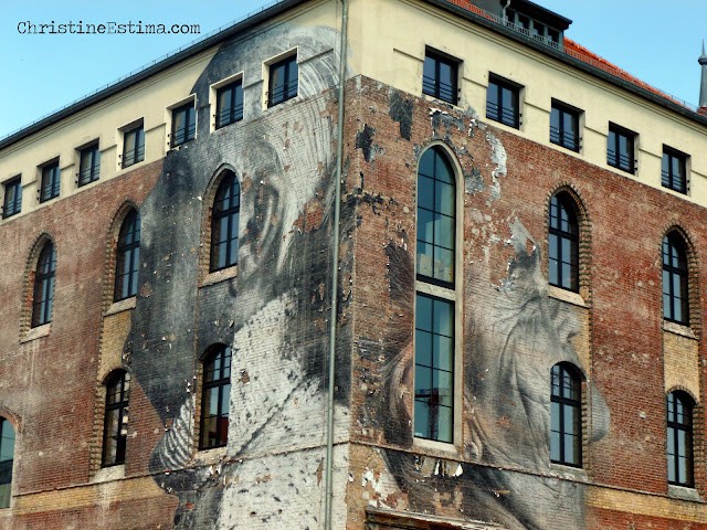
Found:
<svg viewBox="0 0 707 530"><path fill-rule="evenodd" d="M582 465L582 382L564 363L552 367L550 395L550 460Z"/></svg>

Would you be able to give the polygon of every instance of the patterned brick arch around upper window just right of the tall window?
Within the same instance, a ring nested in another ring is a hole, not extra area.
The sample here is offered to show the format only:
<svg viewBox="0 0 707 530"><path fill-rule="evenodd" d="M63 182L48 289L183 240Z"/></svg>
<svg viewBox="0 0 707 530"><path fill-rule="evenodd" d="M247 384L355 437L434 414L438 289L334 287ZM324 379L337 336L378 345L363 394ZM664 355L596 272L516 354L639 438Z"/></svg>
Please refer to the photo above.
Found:
<svg viewBox="0 0 707 530"><path fill-rule="evenodd" d="M558 193L564 193L569 197L577 212L577 221L579 224L579 294L582 296L587 305L591 304L591 261L592 261L592 242L591 242L591 220L587 210L585 201L582 199L581 192L572 182L558 182L555 188L547 193L545 198L545 258L542 259L542 269L547 276L549 243L548 243L548 219L550 216L550 200Z"/></svg>

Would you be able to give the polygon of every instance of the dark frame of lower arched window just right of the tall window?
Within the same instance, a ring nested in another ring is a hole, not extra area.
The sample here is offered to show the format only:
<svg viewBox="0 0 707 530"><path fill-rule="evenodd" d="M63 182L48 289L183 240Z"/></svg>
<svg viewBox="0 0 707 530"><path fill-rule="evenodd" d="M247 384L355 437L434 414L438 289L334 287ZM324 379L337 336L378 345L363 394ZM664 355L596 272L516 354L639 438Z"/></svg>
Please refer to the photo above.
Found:
<svg viewBox="0 0 707 530"><path fill-rule="evenodd" d="M556 377L557 369L557 377ZM582 377L581 372L570 363L559 362L552 367L550 370L550 462L552 464L558 464L561 466L569 467L582 467L582 445L583 445L583 433L582 433ZM562 395L564 393L566 386L564 381L569 379L569 393L570 396ZM556 380L558 384L556 384ZM556 392L556 389L560 389L560 392ZM574 394L574 396L572 395ZM557 405L557 406L555 406ZM553 411L558 411L558 428L553 430L552 418ZM572 411L573 425L572 431L568 432L568 426L566 425L567 411ZM552 455L556 453L553 449L553 441L556 436L553 434L558 434L558 444L557 453L559 453L557 458L553 458ZM569 446L567 436L570 436L573 444ZM572 455L568 457L568 449L572 452Z"/></svg>

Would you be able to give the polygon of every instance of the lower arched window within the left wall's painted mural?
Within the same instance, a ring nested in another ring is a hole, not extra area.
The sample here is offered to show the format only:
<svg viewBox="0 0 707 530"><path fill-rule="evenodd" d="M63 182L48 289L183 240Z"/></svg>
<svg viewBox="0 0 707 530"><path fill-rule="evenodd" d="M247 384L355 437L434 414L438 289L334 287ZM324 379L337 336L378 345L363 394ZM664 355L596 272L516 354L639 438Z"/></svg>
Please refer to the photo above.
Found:
<svg viewBox="0 0 707 530"><path fill-rule="evenodd" d="M222 447L229 439L231 348L218 346L203 362L200 449Z"/></svg>

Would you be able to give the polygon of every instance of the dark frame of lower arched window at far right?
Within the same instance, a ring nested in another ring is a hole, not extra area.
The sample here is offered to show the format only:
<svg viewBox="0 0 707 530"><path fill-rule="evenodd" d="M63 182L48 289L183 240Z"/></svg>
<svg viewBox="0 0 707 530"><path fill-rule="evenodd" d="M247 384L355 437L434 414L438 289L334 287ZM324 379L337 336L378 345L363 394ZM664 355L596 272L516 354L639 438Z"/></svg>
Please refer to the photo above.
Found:
<svg viewBox="0 0 707 530"><path fill-rule="evenodd" d="M671 398L673 398L673 414L671 417ZM678 412L676 406L680 403L683 412ZM695 401L682 391L669 392L665 399L666 412L666 444L665 453L667 457L667 483L674 486L683 486L686 488L695 487L695 432L694 432L694 411ZM679 416L685 421L679 422ZM680 444L680 433L683 433L683 443ZM671 442L674 453L671 454ZM672 458L671 458L672 457ZM671 459L673 466L671 467ZM685 477L680 477L680 459L685 460ZM671 469L674 469L671 476ZM682 479L680 479L682 478Z"/></svg>

